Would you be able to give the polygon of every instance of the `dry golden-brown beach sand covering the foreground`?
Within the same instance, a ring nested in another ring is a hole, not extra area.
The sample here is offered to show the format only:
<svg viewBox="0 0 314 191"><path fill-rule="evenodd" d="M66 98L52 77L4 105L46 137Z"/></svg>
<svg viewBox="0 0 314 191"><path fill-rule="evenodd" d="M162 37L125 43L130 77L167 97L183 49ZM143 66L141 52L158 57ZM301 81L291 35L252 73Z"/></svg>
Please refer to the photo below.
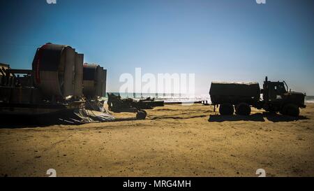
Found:
<svg viewBox="0 0 314 191"><path fill-rule="evenodd" d="M314 105L297 119L253 113L174 105L142 121L1 127L0 176L314 176Z"/></svg>

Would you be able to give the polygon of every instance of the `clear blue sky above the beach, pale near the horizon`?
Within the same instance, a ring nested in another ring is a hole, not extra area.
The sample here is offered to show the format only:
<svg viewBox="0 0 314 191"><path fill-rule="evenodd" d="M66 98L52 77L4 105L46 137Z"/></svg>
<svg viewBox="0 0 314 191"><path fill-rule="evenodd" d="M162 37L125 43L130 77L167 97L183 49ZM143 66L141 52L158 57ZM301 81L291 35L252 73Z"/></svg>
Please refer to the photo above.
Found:
<svg viewBox="0 0 314 191"><path fill-rule="evenodd" d="M68 44L84 62L121 73L195 73L212 80L286 80L314 95L314 1L0 0L0 62L29 69L36 48Z"/></svg>

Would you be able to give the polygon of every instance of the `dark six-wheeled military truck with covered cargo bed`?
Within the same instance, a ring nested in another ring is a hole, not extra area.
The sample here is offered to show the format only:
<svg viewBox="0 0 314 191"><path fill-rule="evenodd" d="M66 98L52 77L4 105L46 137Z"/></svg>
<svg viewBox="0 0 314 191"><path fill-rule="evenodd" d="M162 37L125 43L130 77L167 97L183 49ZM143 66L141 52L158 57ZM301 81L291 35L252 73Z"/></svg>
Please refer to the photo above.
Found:
<svg viewBox="0 0 314 191"><path fill-rule="evenodd" d="M211 83L211 104L219 106L220 115L250 115L251 107L283 115L299 116L305 108L306 94L288 90L285 81L271 82L265 78L263 88L258 83Z"/></svg>

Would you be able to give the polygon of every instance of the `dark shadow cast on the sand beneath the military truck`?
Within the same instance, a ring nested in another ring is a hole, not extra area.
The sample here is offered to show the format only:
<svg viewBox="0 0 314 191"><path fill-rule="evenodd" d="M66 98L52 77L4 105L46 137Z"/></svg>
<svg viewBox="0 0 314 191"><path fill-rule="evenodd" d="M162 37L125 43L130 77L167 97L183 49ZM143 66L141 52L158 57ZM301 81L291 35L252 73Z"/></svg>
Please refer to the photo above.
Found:
<svg viewBox="0 0 314 191"><path fill-rule="evenodd" d="M209 122L225 122L225 121L253 121L264 122L265 118L271 122L292 122L297 120L308 120L304 116L291 117L287 115L280 115L278 113L255 113L252 115L210 115Z"/></svg>

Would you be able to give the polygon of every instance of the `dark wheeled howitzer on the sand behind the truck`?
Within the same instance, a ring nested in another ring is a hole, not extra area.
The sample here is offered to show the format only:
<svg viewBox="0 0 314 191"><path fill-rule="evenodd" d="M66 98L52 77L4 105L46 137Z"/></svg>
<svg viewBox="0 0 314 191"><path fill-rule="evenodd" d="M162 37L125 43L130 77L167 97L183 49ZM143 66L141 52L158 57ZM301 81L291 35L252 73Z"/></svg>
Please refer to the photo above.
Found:
<svg viewBox="0 0 314 191"><path fill-rule="evenodd" d="M144 120L147 116L147 112L144 109L153 109L155 107L164 106L164 101L156 101L154 98L140 99L136 101L134 99L121 99L120 95L107 93L108 95L108 108L114 113L131 112L137 113L136 118L138 120Z"/></svg>

